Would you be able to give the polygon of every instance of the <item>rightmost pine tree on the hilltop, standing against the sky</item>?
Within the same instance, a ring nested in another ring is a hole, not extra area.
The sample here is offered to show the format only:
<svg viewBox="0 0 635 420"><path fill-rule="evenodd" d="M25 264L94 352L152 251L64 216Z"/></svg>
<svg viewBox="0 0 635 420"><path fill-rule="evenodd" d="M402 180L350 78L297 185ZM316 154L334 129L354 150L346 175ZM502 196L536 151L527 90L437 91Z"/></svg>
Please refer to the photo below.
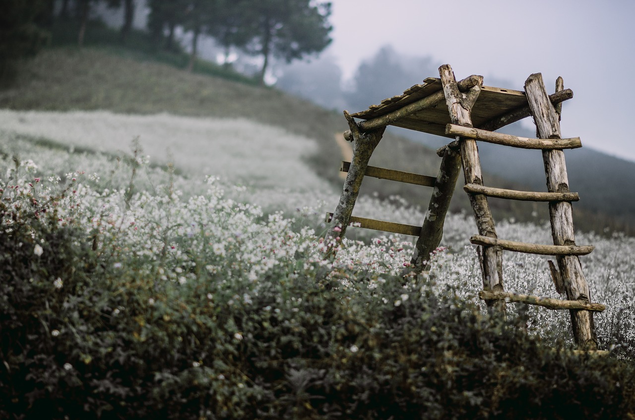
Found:
<svg viewBox="0 0 635 420"><path fill-rule="evenodd" d="M331 42L330 3L311 0L246 0L244 13L251 42L248 51L262 56L258 76L264 83L271 58L286 62L321 52Z"/></svg>

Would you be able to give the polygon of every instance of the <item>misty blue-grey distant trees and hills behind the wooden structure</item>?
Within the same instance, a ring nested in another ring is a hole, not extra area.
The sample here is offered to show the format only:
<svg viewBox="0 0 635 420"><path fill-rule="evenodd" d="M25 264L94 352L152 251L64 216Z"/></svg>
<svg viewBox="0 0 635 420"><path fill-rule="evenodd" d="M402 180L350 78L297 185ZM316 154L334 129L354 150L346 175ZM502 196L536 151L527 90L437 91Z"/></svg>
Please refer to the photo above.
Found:
<svg viewBox="0 0 635 420"><path fill-rule="evenodd" d="M359 65L353 79L349 81L342 79L342 71L333 57L326 56L313 62L288 66L276 86L326 108L339 107L340 111L346 109L358 112L385 98L399 95L425 77L438 77L441 64L431 56L404 56L391 46L383 46L375 56ZM522 89L491 75L485 77L484 83L487 86ZM566 103L564 107L563 118L566 119ZM505 126L499 131L535 137L535 131L521 122ZM448 143L443 137L397 127L389 127L387 132L433 149ZM605 228L631 232L635 228L635 194L626 194L624 186L635 185L635 162L586 147L584 136L580 137L581 149L565 150L570 189L580 194L580 201L573 204L578 218L596 218L601 220L600 224L606 225ZM393 154L392 159L399 159L394 151L387 152ZM500 188L516 185L515 188L519 189L546 191L544 166L539 151L479 142L479 156L487 185ZM582 225L584 221L577 219L576 223Z"/></svg>

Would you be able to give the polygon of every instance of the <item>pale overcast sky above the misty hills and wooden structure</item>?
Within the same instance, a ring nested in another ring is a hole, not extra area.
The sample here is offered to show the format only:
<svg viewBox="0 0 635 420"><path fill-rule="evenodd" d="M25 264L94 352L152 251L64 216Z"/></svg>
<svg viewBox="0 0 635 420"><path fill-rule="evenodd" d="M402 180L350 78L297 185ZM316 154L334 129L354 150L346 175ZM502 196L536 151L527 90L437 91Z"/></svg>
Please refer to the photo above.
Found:
<svg viewBox="0 0 635 420"><path fill-rule="evenodd" d="M563 137L635 161L635 1L331 0L335 55L344 77L385 44L471 74L511 81L542 73L547 90L565 79ZM438 74L422 74L425 77ZM404 86L404 89L409 86ZM398 95L401 92L395 92ZM620 128L621 127L621 128Z"/></svg>

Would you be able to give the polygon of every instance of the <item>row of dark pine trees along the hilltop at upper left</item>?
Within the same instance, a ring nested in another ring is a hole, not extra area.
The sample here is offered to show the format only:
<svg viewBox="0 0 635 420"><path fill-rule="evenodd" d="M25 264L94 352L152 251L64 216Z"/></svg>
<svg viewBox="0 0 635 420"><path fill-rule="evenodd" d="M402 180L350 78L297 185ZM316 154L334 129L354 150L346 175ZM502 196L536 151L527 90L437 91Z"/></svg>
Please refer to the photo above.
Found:
<svg viewBox="0 0 635 420"><path fill-rule="evenodd" d="M313 0L146 0L147 30L157 49L177 51L177 28L192 34L189 69L196 62L201 36L224 48L262 57L258 78L264 81L272 58L291 62L319 53L331 42L331 3ZM91 8L97 3L123 7L121 42L126 43L135 14L134 0L4 0L0 16L2 65L35 53L46 43L55 18L79 22L77 44L84 44ZM57 8L55 7L57 4ZM57 16L54 11L58 10ZM5 22L6 21L6 22Z"/></svg>

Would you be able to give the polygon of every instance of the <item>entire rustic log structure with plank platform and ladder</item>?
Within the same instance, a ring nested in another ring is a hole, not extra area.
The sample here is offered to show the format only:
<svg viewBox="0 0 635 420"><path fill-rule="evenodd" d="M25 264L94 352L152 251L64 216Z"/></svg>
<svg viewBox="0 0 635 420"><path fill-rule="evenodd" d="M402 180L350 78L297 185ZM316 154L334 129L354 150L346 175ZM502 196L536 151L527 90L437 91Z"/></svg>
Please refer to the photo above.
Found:
<svg viewBox="0 0 635 420"><path fill-rule="evenodd" d="M483 77L478 75L457 82L450 65L439 67L439 75L440 79L425 79L422 84L404 91L403 95L393 96L363 112L351 115L344 111L350 128L344 136L354 143L353 156L352 162L342 162L340 170L347 172L344 190L335 212L327 214L330 227L326 242L330 244L330 252L337 250L347 226L357 222L365 228L417 236L411 270L424 270L431 252L441 242L443 223L462 168L464 190L469 194L478 226L478 235L472 236L471 242L478 245L483 273L483 291L479 292L479 297L488 306L499 310L504 310L506 302L570 310L575 342L580 348L596 350L598 343L592 313L604 310L605 306L591 303L589 285L578 259L580 255L591 253L594 247L575 244L571 202L579 197L569 190L563 153L565 148L582 147L582 144L580 138L563 139L560 135L561 103L573 97L572 91L564 89L559 77L556 92L548 95L541 74L530 75L525 82L525 91L483 86ZM529 116L536 124L538 138L493 133ZM442 159L436 177L368 166L373 150L389 125L454 139L437 151ZM476 141L542 150L548 192L486 187ZM352 216L364 175L433 187L422 226ZM548 202L554 244L498 239L487 197ZM548 261L549 268L556 290L561 294L566 292L567 300L505 292L503 250L555 256L558 267Z"/></svg>

